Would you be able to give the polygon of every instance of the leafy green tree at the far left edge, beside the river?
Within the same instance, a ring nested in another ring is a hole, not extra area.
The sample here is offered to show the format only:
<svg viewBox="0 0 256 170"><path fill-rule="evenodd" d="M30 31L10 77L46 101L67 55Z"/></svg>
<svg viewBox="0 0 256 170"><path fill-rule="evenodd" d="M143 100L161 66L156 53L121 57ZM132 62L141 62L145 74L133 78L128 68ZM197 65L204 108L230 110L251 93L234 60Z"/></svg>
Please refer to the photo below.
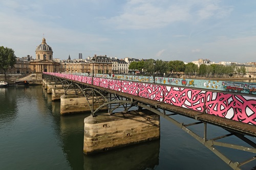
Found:
<svg viewBox="0 0 256 170"><path fill-rule="evenodd" d="M12 48L0 46L0 69L4 70L5 80L6 80L6 71L9 67L13 68L16 63L16 56Z"/></svg>

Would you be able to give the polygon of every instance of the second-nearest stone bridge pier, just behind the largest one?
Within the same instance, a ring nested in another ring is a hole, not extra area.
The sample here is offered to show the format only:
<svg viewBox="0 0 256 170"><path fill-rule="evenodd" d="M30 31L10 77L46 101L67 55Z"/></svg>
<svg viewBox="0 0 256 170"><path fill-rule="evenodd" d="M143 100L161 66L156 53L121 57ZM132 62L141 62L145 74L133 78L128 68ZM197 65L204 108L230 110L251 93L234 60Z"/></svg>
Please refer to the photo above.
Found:
<svg viewBox="0 0 256 170"><path fill-rule="evenodd" d="M96 96L94 96L96 98ZM91 112L90 105L92 104L92 98L87 99L83 95L78 94L69 94L60 96L60 114L74 114L82 112ZM104 101L94 103L94 110L96 110ZM105 106L100 110L108 110L108 107Z"/></svg>

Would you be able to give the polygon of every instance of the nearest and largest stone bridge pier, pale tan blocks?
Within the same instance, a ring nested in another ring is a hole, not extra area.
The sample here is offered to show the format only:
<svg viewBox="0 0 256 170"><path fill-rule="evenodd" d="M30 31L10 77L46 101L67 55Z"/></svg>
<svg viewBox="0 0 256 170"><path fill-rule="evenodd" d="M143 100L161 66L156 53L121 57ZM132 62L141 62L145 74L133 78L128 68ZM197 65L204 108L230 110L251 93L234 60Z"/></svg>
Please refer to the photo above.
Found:
<svg viewBox="0 0 256 170"><path fill-rule="evenodd" d="M159 139L159 117L148 110L86 117L83 152L94 154Z"/></svg>

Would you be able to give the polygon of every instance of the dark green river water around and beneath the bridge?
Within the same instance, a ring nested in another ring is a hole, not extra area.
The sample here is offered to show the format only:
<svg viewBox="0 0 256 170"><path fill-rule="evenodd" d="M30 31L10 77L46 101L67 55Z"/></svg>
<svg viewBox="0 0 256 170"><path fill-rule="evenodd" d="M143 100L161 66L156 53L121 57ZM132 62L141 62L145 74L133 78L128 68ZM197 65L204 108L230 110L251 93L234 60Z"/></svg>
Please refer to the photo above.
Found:
<svg viewBox="0 0 256 170"><path fill-rule="evenodd" d="M84 155L83 119L89 115L61 116L60 101L52 102L42 86L0 88L0 169L231 169L164 118L160 140ZM218 127L207 129L210 136L227 134ZM224 153L238 160L247 156L228 149ZM256 169L255 165L254 161L243 169Z"/></svg>

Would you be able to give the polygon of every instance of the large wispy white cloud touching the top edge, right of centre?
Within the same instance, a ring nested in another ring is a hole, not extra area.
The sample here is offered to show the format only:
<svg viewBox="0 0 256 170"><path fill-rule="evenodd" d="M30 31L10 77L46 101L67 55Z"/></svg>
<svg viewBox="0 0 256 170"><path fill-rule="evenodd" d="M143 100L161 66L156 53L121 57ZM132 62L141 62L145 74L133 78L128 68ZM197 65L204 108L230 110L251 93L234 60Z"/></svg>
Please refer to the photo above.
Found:
<svg viewBox="0 0 256 170"><path fill-rule="evenodd" d="M163 28L174 22L200 21L211 17L227 16L232 10L221 1L153 1L130 0L123 6L120 15L106 18L105 23L117 29Z"/></svg>

